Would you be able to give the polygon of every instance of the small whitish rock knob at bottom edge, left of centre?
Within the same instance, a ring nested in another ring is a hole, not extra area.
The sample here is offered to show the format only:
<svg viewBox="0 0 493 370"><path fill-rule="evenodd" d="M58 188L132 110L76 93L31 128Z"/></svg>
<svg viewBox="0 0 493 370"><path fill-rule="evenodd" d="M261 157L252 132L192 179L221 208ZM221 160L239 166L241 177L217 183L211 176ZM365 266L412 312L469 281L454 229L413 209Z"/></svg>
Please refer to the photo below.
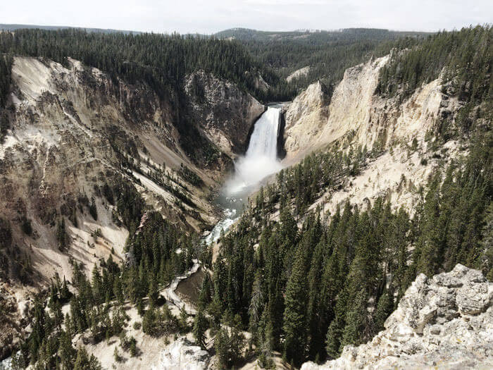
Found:
<svg viewBox="0 0 493 370"><path fill-rule="evenodd" d="M201 347L187 339L179 339L161 352L161 359L152 370L204 370L209 368L211 357Z"/></svg>

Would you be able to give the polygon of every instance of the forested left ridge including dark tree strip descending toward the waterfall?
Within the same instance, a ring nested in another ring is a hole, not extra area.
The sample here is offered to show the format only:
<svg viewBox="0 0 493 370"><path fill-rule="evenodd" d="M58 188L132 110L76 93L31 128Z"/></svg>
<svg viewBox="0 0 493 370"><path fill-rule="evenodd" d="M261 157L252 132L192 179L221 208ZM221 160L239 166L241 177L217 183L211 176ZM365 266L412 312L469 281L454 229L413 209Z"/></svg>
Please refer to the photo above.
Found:
<svg viewBox="0 0 493 370"><path fill-rule="evenodd" d="M170 118L180 132L182 148L196 163L204 166L220 154L189 117L186 75L205 70L234 82L240 90L261 100L270 99L270 92L256 87L256 78L262 75L273 85L278 80L276 75L256 63L238 42L211 37L107 34L76 29L16 30L0 32L0 54L5 55L6 61L12 61L12 56L32 56L65 66L68 66L69 57L75 58L85 66L99 68L115 83L121 80L130 85L149 86L170 106ZM0 66L0 101L4 104L11 74L8 66L11 62L5 68Z"/></svg>

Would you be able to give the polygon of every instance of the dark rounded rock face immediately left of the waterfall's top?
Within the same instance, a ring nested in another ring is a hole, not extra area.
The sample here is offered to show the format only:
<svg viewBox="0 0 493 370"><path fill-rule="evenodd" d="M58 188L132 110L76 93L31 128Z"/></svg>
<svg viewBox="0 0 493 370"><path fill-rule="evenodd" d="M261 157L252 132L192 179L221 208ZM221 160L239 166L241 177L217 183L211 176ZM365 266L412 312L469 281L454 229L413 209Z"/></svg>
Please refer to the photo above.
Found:
<svg viewBox="0 0 493 370"><path fill-rule="evenodd" d="M204 134L230 156L243 153L251 127L265 106L232 82L199 70L187 76L189 114Z"/></svg>

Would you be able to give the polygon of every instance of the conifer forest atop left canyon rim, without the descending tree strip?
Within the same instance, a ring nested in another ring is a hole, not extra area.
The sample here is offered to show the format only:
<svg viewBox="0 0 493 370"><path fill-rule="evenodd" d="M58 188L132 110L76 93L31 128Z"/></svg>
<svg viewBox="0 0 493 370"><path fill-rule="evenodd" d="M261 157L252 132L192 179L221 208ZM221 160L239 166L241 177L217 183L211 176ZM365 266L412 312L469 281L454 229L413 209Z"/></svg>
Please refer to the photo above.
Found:
<svg viewBox="0 0 493 370"><path fill-rule="evenodd" d="M237 42L180 35L16 30L0 34L0 52L42 56L59 63L75 58L129 83L144 81L161 97L181 89L185 75L198 69L255 93L254 81L244 72L260 68Z"/></svg>

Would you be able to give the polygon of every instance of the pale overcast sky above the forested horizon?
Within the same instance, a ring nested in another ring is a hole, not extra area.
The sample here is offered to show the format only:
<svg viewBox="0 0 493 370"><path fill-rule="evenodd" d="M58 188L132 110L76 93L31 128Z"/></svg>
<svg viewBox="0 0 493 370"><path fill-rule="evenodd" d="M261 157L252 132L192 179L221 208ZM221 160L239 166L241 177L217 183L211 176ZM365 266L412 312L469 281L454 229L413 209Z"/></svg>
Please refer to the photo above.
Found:
<svg viewBox="0 0 493 370"><path fill-rule="evenodd" d="M154 32L435 31L493 22L493 0L1 0L0 23Z"/></svg>

